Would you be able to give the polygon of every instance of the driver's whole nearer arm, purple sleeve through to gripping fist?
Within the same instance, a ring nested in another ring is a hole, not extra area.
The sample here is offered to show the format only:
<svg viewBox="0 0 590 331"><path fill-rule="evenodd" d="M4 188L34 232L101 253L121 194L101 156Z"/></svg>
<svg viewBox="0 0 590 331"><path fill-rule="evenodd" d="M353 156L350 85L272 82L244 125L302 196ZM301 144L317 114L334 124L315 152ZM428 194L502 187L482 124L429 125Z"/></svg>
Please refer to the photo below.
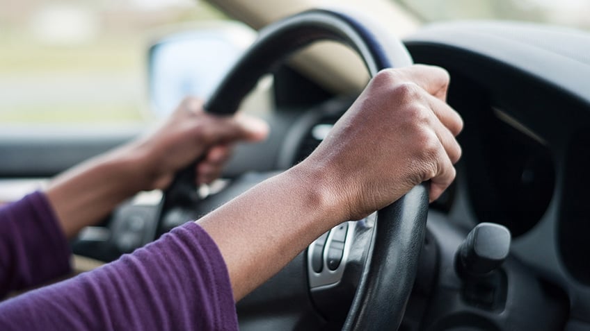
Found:
<svg viewBox="0 0 590 331"><path fill-rule="evenodd" d="M237 328L232 297L321 233L424 180L431 199L452 182L462 122L443 102L447 84L431 67L384 71L308 159L198 221L207 232L189 223L113 264L0 304L0 326L210 329L216 324L199 323L225 316L219 328Z"/></svg>

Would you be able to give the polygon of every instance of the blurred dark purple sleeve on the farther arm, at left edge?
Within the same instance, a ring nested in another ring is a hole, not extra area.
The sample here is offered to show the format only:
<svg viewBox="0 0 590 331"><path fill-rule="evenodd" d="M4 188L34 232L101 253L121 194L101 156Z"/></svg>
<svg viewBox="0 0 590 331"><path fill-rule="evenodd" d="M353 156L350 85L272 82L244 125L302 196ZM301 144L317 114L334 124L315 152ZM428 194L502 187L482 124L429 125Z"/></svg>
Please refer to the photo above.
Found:
<svg viewBox="0 0 590 331"><path fill-rule="evenodd" d="M0 208L0 298L70 271L70 248L45 195Z"/></svg>

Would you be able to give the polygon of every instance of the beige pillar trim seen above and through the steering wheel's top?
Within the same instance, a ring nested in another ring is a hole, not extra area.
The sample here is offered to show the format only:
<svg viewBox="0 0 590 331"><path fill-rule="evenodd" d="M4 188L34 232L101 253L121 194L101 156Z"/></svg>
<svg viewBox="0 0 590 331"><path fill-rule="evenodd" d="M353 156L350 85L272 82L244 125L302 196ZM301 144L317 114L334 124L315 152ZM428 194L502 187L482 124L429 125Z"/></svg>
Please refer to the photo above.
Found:
<svg viewBox="0 0 590 331"><path fill-rule="evenodd" d="M404 37L416 31L420 22L391 0L209 0L249 26L260 29L271 22L310 8L340 6L374 17L393 35ZM292 63L328 90L339 94L358 93L368 74L362 61L350 49L335 43L314 44L294 56Z"/></svg>

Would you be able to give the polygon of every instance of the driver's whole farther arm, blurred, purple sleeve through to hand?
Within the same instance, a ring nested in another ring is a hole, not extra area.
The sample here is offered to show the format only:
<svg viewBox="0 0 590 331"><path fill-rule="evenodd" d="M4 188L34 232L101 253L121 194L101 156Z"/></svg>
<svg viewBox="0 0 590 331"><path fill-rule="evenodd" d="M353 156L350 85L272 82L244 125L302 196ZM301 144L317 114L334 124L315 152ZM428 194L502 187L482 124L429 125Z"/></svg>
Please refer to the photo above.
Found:
<svg viewBox="0 0 590 331"><path fill-rule="evenodd" d="M218 176L240 139L263 139L266 124L248 117L217 118L186 99L151 135L88 160L57 178L46 195L35 193L0 210L0 298L65 275L66 238L106 216L143 189L163 188L175 171L206 153L198 181Z"/></svg>

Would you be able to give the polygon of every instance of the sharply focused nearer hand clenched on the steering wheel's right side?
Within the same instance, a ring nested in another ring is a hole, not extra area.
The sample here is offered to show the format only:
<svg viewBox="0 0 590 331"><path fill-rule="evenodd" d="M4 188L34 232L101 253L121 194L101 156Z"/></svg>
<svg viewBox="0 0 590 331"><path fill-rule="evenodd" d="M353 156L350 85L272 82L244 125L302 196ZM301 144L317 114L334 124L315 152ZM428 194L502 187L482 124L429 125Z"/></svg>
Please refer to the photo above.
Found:
<svg viewBox="0 0 590 331"><path fill-rule="evenodd" d="M431 180L430 201L455 178L459 114L449 75L415 65L380 71L298 168L323 185L344 219L361 219Z"/></svg>

